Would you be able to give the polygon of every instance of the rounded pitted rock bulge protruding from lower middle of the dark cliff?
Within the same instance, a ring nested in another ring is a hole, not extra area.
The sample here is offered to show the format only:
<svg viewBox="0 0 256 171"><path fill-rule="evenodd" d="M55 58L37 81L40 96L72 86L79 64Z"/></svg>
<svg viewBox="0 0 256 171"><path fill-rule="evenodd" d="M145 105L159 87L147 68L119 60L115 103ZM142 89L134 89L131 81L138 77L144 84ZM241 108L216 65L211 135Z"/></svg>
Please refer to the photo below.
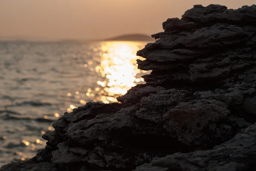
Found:
<svg viewBox="0 0 256 171"><path fill-rule="evenodd" d="M228 114L230 111L225 108L204 104L185 110L172 109L163 117L169 120L166 129L176 132L179 142L188 145L215 145L229 140L232 136L230 125L216 124L227 119Z"/></svg>

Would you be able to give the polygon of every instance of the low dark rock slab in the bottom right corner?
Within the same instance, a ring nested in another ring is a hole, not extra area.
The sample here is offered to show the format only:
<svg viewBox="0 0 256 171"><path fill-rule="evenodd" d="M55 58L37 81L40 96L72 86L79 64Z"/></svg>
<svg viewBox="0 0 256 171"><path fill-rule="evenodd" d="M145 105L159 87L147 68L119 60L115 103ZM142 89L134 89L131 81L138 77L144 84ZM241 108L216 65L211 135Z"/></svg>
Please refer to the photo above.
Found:
<svg viewBox="0 0 256 171"><path fill-rule="evenodd" d="M253 171L256 136L238 134L211 150L154 158L134 171Z"/></svg>

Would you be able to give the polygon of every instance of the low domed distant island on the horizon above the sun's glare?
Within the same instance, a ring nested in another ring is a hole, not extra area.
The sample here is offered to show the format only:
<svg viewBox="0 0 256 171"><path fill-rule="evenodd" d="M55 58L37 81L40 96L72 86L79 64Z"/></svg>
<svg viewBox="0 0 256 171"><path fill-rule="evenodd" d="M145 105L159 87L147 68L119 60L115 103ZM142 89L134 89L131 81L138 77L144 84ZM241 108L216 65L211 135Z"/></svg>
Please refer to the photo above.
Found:
<svg viewBox="0 0 256 171"><path fill-rule="evenodd" d="M127 34L104 39L102 41L154 41L154 38L143 34Z"/></svg>

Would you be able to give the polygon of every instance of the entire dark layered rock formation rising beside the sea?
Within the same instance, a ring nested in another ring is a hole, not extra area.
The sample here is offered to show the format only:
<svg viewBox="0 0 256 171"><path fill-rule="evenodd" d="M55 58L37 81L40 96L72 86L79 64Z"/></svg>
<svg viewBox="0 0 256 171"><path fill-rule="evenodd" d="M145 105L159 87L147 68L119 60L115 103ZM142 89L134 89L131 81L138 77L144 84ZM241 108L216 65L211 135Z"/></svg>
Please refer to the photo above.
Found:
<svg viewBox="0 0 256 171"><path fill-rule="evenodd" d="M163 29L137 52L146 84L65 113L44 150L0 170L252 171L256 6L195 5Z"/></svg>

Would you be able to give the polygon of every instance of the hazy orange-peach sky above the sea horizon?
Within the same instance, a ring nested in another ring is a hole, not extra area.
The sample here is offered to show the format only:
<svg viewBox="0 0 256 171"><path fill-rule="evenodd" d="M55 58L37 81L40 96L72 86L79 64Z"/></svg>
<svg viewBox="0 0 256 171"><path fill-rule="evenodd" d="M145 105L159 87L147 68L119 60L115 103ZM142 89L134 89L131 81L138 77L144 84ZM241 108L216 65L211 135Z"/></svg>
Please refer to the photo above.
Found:
<svg viewBox="0 0 256 171"><path fill-rule="evenodd" d="M125 33L162 31L167 18L194 4L229 9L256 0L0 0L0 36L49 39L108 38Z"/></svg>

